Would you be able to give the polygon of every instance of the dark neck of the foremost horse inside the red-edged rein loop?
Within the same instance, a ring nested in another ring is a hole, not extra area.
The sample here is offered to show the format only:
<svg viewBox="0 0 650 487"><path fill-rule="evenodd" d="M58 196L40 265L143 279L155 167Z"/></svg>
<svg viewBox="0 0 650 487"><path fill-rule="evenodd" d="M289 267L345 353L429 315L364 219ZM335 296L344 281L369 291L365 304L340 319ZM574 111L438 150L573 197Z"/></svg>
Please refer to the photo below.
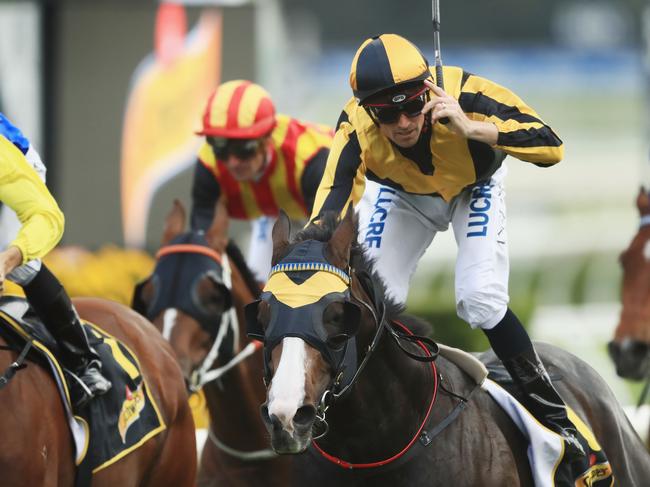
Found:
<svg viewBox="0 0 650 487"><path fill-rule="evenodd" d="M323 446L335 451L344 445L361 459L394 453L424 421L433 389L431 365L409 358L385 334L357 383L328 411L330 432Z"/></svg>

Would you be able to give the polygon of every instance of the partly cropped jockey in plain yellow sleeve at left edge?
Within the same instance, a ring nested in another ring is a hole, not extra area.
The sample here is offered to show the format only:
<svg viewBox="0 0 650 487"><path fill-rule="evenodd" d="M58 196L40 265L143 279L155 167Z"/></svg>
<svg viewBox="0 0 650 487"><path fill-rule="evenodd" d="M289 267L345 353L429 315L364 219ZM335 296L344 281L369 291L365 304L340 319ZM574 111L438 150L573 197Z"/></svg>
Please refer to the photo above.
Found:
<svg viewBox="0 0 650 487"><path fill-rule="evenodd" d="M71 392L79 408L108 391L111 383L101 374L97 352L89 345L68 294L41 262L61 239L64 217L37 169L44 175L38 153L0 113L0 201L21 222L18 235L0 252L0 295L5 279L23 287L32 309L57 340L58 358L73 374Z"/></svg>

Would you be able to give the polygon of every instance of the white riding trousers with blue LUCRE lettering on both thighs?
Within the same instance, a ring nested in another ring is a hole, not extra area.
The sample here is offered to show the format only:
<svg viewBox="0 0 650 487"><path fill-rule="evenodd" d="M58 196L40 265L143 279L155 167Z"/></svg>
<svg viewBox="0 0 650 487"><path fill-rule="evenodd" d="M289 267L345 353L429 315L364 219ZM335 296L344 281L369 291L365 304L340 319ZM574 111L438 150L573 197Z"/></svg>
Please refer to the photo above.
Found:
<svg viewBox="0 0 650 487"><path fill-rule="evenodd" d="M357 206L359 242L375 261L388 295L403 303L417 264L437 232L454 230L456 311L473 328L490 329L508 307L508 244L503 165L484 184L449 203L372 181Z"/></svg>

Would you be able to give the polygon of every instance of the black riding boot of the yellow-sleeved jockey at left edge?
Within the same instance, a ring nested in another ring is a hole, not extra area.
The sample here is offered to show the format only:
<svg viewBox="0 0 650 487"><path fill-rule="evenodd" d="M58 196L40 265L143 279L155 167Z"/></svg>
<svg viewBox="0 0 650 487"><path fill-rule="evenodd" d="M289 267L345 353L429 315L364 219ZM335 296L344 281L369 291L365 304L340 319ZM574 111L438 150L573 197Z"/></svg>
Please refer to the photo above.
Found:
<svg viewBox="0 0 650 487"><path fill-rule="evenodd" d="M36 277L24 286L25 295L61 350L61 362L77 380L75 407L84 406L96 395L107 392L112 384L101 374L99 355L88 337L77 312L59 280L43 265Z"/></svg>

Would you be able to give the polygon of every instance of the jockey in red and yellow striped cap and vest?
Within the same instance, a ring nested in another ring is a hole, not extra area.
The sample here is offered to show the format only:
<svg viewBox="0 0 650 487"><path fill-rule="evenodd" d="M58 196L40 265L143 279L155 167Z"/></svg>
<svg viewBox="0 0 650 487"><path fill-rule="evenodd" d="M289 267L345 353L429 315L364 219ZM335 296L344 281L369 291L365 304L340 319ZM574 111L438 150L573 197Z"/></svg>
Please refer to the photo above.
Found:
<svg viewBox="0 0 650 487"><path fill-rule="evenodd" d="M192 229L206 229L221 199L231 218L253 223L248 264L260 282L270 268L271 227L280 209L309 217L332 143L329 127L276 114L270 95L229 81L208 99L192 186Z"/></svg>

